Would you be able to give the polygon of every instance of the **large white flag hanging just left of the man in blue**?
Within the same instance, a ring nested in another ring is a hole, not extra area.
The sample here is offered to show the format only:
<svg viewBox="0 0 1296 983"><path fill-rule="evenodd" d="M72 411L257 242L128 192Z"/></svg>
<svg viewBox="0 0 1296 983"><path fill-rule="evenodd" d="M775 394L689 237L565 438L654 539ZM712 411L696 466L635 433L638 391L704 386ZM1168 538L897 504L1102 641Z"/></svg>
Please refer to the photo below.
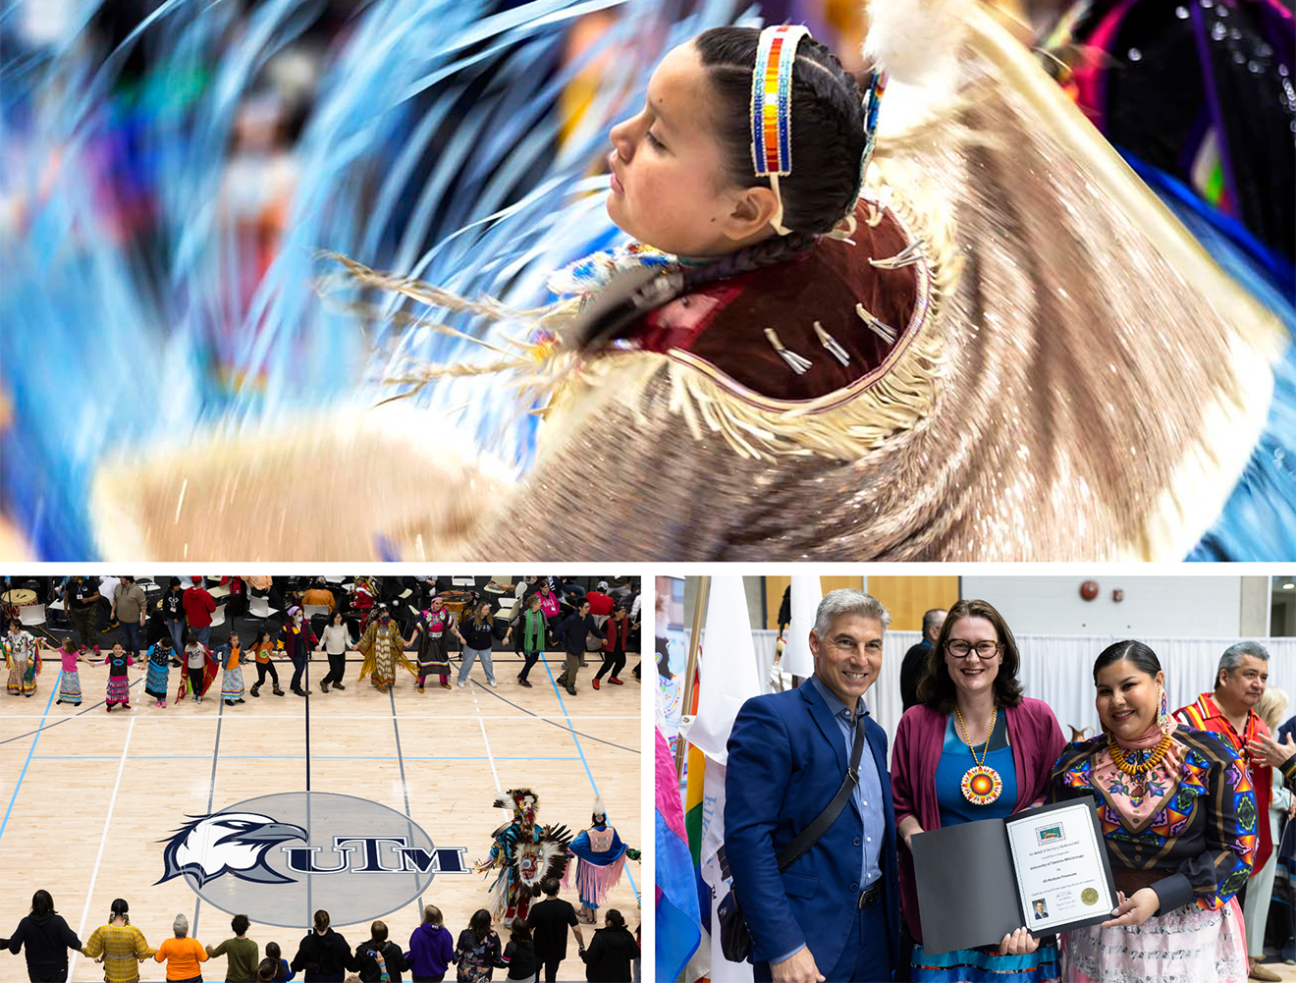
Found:
<svg viewBox="0 0 1296 983"><path fill-rule="evenodd" d="M730 962L721 952L715 906L728 894L717 852L724 844L724 765L728 761L728 735L734 718L752 696L758 696L761 676L752 641L746 595L741 577L713 577L706 608L706 655L700 661L697 715L682 734L706 756L702 772L701 846L697 851L699 877L710 888L710 983L749 983L752 965ZM689 774L689 803L693 801L693 776Z"/></svg>

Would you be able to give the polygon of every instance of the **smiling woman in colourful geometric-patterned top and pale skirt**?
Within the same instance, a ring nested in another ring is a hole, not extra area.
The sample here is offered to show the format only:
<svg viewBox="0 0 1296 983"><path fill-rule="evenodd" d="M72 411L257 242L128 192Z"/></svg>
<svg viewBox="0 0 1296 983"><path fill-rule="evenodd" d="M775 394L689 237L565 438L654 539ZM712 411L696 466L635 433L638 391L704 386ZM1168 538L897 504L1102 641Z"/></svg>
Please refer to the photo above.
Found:
<svg viewBox="0 0 1296 983"><path fill-rule="evenodd" d="M1235 897L1260 836L1247 769L1217 735L1170 716L1165 673L1142 642L1094 667L1104 734L1069 744L1050 799L1096 799L1117 917L1063 932L1065 979L1243 983L1247 940Z"/></svg>

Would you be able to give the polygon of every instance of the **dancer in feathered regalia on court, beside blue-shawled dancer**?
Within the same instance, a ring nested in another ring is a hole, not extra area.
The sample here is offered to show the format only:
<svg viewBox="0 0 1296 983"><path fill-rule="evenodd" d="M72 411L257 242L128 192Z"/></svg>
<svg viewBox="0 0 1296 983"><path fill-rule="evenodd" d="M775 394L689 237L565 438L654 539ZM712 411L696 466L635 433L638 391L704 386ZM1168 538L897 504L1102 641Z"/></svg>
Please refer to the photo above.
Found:
<svg viewBox="0 0 1296 983"><path fill-rule="evenodd" d="M495 796L495 808L513 804L513 821L491 834L495 843L490 860L473 865L473 870L499 870L490 886L491 916L496 922L525 918L531 899L540 896L540 881L562 877L572 833L566 826L537 826L535 813L540 798L530 788L509 788Z"/></svg>

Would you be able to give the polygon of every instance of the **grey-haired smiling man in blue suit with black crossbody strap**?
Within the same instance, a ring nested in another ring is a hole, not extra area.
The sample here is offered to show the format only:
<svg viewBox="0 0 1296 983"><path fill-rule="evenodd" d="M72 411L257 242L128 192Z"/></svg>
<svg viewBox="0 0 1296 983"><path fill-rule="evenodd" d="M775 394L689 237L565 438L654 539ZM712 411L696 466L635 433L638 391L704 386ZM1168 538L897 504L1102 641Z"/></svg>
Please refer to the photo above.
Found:
<svg viewBox="0 0 1296 983"><path fill-rule="evenodd" d="M728 740L724 853L752 932L758 982L889 983L899 949L896 814L886 733L864 694L883 661L886 608L859 590L819 603L815 670L798 689L743 704ZM832 801L855 729L859 782L788 870L778 855Z"/></svg>

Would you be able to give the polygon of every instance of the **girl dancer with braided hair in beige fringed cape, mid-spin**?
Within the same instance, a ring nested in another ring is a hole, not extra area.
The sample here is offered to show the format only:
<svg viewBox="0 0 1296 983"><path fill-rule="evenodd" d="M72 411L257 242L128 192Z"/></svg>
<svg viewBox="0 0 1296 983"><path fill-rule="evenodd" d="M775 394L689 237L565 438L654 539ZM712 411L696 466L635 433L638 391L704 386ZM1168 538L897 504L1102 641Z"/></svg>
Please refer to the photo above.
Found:
<svg viewBox="0 0 1296 983"><path fill-rule="evenodd" d="M520 414L544 409L520 481L438 449L446 494L411 481L415 504L377 468L340 467L347 488L319 493L343 521L277 529L263 502L299 444L213 438L205 456L237 454L245 481L192 453L119 467L97 484L101 528L137 517L114 527L143 537L118 543L132 556L301 552L306 534L319 558L376 539L476 560L1187 555L1262 434L1282 438L1278 315L971 0L871 4L863 106L827 48L766 30L706 31L661 62L649 106L612 131L608 211L636 241L556 278L556 306L502 314L346 263L358 288L539 329L490 364L412 373L511 372ZM629 437L612 453L607 433ZM248 521L179 538L137 515L181 486L187 510ZM358 497L399 517L347 524L336 504Z"/></svg>

